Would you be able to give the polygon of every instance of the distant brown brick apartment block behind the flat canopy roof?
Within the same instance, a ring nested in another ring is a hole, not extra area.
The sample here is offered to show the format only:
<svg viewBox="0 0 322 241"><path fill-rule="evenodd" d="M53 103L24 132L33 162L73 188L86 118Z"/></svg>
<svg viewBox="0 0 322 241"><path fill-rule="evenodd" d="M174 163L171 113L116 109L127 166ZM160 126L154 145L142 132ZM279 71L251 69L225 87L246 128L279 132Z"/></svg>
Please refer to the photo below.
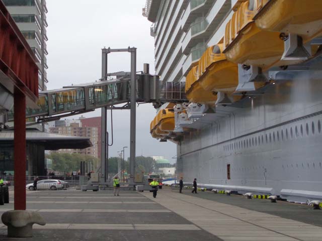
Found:
<svg viewBox="0 0 322 241"><path fill-rule="evenodd" d="M78 121L78 120L76 120ZM79 153L84 155L89 155L93 157L98 157L99 155L99 149L98 149L98 137L99 132L97 127L82 127L81 123L70 123L67 125L62 125L61 122L58 123L56 127L50 127L49 132L56 133L56 134L62 134L62 135L68 135L68 136L75 136L75 137L88 137L90 138L93 146L85 149L60 149L58 151L52 151L52 152L58 152L58 153Z"/></svg>

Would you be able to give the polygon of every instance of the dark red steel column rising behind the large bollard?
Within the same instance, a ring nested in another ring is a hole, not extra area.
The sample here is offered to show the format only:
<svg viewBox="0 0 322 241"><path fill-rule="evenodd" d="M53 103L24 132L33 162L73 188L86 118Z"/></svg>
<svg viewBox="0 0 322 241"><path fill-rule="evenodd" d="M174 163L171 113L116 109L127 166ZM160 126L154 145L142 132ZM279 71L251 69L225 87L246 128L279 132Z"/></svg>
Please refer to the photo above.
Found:
<svg viewBox="0 0 322 241"><path fill-rule="evenodd" d="M15 210L26 210L26 96L14 91Z"/></svg>

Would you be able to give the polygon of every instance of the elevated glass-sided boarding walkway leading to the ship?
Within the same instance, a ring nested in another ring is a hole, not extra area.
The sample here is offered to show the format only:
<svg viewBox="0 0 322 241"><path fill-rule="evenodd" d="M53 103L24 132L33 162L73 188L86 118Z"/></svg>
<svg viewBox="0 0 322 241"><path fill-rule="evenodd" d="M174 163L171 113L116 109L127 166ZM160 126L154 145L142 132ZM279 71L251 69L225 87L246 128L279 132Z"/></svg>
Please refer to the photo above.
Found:
<svg viewBox="0 0 322 241"><path fill-rule="evenodd" d="M146 90L146 82L140 83L141 75L137 75L137 102L178 102L187 101L185 97L185 83L166 82L161 84L158 78L149 75L150 82ZM143 75L142 75L143 76ZM146 75L145 75L146 79ZM143 86L143 87L140 87ZM144 89L145 88L145 89ZM147 101L144 93L149 95ZM26 117L59 116L60 114L79 114L96 108L130 102L130 76L118 79L97 81L86 84L66 86L61 89L46 90L39 93L38 107L27 108ZM13 108L8 113L8 121L13 120Z"/></svg>

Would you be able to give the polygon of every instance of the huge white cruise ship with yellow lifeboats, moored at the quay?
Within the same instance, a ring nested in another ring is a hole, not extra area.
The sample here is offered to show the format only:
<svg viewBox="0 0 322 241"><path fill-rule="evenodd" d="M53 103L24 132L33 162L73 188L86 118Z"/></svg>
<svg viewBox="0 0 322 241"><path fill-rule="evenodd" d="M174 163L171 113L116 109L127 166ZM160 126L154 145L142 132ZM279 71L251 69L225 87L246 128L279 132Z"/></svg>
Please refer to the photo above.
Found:
<svg viewBox="0 0 322 241"><path fill-rule="evenodd" d="M322 1L147 0L155 74L187 101L158 103L153 138L185 182L322 199ZM160 143L162 145L162 143Z"/></svg>

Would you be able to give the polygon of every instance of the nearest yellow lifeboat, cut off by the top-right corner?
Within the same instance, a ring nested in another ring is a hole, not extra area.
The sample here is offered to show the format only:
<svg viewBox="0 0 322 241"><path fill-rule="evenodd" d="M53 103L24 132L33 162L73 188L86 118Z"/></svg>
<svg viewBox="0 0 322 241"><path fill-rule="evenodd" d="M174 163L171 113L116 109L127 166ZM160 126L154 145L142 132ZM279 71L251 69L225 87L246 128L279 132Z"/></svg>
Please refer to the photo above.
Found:
<svg viewBox="0 0 322 241"><path fill-rule="evenodd" d="M322 35L321 0L257 0L261 10L255 16L258 28L293 33L306 43Z"/></svg>

